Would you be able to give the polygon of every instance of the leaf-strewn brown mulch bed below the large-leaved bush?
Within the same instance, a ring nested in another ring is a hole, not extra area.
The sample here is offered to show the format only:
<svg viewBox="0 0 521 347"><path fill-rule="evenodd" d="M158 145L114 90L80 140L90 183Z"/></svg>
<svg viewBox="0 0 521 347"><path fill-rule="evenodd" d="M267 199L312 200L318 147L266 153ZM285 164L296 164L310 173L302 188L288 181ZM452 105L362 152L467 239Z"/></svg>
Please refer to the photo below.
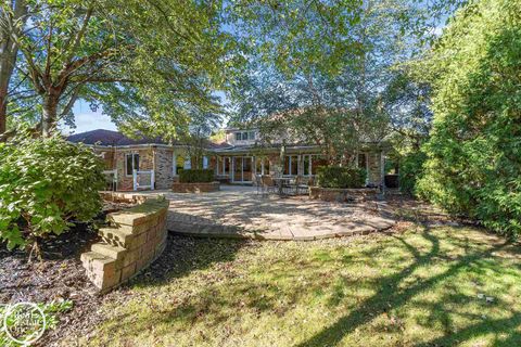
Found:
<svg viewBox="0 0 521 347"><path fill-rule="evenodd" d="M127 206L106 204L98 222L104 221L106 213ZM9 252L0 243L0 304L73 301L73 308L58 317L59 327L48 331L35 346L52 346L67 332L92 326L98 319L96 308L102 298L86 275L80 254L99 241L89 224L78 223L68 232L42 242L41 261L33 257L30 262L27 253Z"/></svg>

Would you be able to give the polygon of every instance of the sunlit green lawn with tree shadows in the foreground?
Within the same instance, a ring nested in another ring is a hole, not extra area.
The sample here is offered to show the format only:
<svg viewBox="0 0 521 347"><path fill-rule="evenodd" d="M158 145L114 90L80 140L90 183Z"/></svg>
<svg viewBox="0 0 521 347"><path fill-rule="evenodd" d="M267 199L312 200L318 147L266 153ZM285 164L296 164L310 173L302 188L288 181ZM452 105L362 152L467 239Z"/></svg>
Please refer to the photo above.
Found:
<svg viewBox="0 0 521 347"><path fill-rule="evenodd" d="M521 250L475 229L171 243L163 275L106 299L86 344L521 346Z"/></svg>

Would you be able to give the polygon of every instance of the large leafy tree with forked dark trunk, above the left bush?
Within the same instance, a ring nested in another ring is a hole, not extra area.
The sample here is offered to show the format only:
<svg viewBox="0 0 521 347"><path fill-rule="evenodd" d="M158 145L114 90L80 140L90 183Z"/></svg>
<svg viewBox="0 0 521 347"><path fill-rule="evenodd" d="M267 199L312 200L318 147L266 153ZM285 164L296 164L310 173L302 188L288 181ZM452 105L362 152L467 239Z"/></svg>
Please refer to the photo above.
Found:
<svg viewBox="0 0 521 347"><path fill-rule="evenodd" d="M22 97L13 110L41 112L48 136L86 100L127 132L174 138L190 113L217 112L211 92L224 82L228 39L220 2L170 0L35 0L16 30L2 4L3 25L17 44ZM22 105L22 107L20 107ZM33 113L33 114L31 114Z"/></svg>

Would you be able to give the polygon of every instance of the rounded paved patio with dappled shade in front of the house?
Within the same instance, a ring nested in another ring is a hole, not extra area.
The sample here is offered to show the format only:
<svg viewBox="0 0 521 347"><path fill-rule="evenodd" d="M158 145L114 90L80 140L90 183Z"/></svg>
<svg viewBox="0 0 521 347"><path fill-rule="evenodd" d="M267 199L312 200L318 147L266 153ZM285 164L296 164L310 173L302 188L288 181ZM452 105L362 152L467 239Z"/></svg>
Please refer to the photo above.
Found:
<svg viewBox="0 0 521 347"><path fill-rule="evenodd" d="M221 185L213 193L140 192L170 201L168 230L213 237L310 241L367 234L395 221L379 202L338 204L307 196L257 195L252 187Z"/></svg>

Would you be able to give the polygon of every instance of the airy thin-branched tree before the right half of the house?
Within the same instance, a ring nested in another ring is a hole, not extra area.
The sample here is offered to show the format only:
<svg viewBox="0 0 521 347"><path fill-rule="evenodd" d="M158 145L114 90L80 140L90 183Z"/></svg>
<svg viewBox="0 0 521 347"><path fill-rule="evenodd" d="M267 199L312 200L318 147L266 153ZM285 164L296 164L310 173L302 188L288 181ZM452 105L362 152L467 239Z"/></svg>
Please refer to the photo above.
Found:
<svg viewBox="0 0 521 347"><path fill-rule="evenodd" d="M383 91L396 74L392 66L411 54L402 18L418 16L422 10L399 0L352 3L347 9L352 20L340 27L335 22L321 22L319 10L308 11L308 22L328 24L322 28L326 38L314 39L313 29L309 36L300 31L295 41L289 35L283 39L298 53L282 63L267 60L260 49L233 94L238 120L256 120L268 140L283 133L315 143L330 162L342 164L354 160L363 142L385 137L389 110ZM288 16L287 11L280 16L294 21L288 28L298 27L298 16ZM279 42L278 33L271 35L265 39L268 48L271 41Z"/></svg>

